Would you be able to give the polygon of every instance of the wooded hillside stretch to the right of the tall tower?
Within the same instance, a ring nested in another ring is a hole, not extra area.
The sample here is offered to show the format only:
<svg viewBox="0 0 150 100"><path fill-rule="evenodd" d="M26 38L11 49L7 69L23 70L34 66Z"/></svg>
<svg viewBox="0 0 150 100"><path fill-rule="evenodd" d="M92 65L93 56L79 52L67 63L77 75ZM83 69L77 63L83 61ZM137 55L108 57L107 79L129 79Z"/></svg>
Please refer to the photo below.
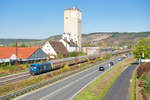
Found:
<svg viewBox="0 0 150 100"><path fill-rule="evenodd" d="M130 33L119 33L119 32L108 32L108 33L102 33L102 32L97 32L97 33L90 33L89 35L93 35L95 36L95 38L97 37L97 34L107 34L110 35L108 38L105 39L101 39L98 41L94 41L92 42L92 40L90 40L90 42L87 41L83 41L83 43L85 44L94 44L94 45L100 45L101 43L106 43L108 46L124 46L124 45L132 45L135 44L136 41L138 41L141 38L149 38L150 39L150 32L130 32ZM83 40L87 39L86 37L83 37ZM92 38L91 38L92 39Z"/></svg>

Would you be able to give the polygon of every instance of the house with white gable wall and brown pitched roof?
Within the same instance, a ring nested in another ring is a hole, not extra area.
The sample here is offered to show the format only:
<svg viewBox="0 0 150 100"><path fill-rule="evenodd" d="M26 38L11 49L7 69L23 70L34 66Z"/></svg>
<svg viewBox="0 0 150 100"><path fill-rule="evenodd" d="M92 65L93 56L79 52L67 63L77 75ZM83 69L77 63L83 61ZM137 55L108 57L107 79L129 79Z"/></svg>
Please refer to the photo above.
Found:
<svg viewBox="0 0 150 100"><path fill-rule="evenodd" d="M47 41L42 50L50 57L55 58L57 55L68 55L66 47L59 41Z"/></svg>

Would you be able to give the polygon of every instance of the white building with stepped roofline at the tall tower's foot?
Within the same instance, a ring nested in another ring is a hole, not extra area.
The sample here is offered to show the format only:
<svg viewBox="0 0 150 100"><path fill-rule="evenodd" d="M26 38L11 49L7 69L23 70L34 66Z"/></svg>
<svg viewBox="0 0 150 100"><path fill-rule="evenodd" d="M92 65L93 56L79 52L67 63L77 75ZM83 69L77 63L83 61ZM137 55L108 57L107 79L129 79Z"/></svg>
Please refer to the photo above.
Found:
<svg viewBox="0 0 150 100"><path fill-rule="evenodd" d="M63 43L63 45L67 48L68 52L79 51L79 47L76 43L72 41L69 33L64 33L62 35L62 39L59 41Z"/></svg>

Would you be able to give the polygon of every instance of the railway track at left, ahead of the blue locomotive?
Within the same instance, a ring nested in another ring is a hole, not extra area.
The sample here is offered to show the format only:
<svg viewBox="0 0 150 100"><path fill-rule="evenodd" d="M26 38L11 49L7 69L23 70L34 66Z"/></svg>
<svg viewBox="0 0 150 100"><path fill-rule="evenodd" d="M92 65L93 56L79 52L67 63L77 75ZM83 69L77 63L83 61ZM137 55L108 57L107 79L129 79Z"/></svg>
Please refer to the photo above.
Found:
<svg viewBox="0 0 150 100"><path fill-rule="evenodd" d="M9 82L15 82L15 81L19 81L22 79L26 79L29 78L31 75L29 72L23 72L23 73L19 73L19 74L14 74L14 75L8 75L5 77L0 77L0 86L9 83Z"/></svg>

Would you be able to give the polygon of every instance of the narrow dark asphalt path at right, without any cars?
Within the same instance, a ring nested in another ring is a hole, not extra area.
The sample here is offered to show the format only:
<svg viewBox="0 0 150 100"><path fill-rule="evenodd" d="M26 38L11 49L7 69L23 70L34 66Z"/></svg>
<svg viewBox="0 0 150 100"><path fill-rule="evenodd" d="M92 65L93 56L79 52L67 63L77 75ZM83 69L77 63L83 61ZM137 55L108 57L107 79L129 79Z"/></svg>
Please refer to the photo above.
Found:
<svg viewBox="0 0 150 100"><path fill-rule="evenodd" d="M109 89L103 100L129 100L130 82L133 70L138 64L127 67Z"/></svg>

